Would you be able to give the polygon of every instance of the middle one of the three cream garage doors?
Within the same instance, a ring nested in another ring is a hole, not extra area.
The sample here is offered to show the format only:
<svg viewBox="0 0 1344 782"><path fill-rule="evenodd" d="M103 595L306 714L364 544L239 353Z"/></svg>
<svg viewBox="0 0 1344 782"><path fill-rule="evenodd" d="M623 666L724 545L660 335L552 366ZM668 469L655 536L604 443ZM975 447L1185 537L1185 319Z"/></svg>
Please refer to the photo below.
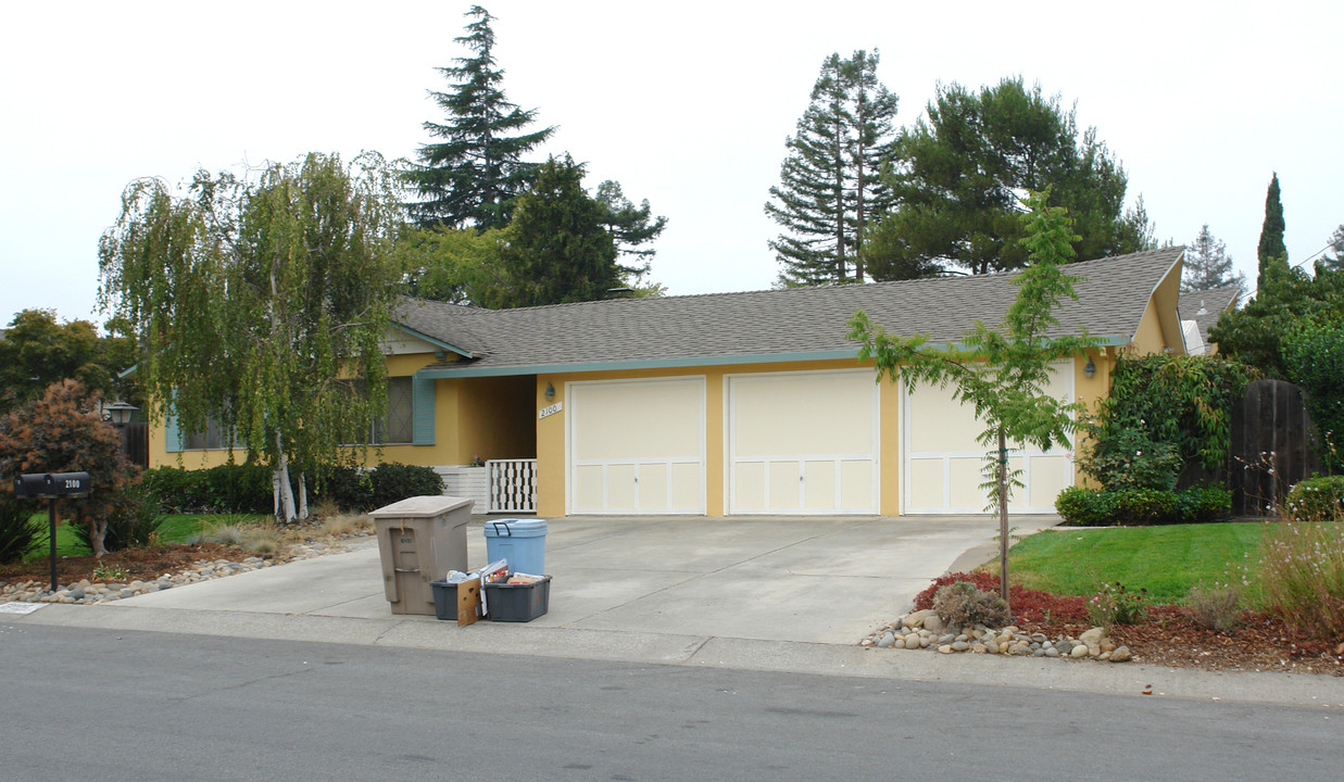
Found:
<svg viewBox="0 0 1344 782"><path fill-rule="evenodd" d="M876 513L871 372L728 378L728 513Z"/></svg>

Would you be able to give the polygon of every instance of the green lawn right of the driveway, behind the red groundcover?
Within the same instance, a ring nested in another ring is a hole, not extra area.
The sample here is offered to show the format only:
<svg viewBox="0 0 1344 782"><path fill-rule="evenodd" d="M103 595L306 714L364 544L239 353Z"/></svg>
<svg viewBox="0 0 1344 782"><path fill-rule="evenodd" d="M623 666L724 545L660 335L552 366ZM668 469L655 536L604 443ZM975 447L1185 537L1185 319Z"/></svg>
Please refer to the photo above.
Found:
<svg viewBox="0 0 1344 782"><path fill-rule="evenodd" d="M1066 597L1089 597L1099 584L1118 582L1173 603L1199 583L1241 583L1270 528L1263 523L1055 528L1012 547L1009 578Z"/></svg>

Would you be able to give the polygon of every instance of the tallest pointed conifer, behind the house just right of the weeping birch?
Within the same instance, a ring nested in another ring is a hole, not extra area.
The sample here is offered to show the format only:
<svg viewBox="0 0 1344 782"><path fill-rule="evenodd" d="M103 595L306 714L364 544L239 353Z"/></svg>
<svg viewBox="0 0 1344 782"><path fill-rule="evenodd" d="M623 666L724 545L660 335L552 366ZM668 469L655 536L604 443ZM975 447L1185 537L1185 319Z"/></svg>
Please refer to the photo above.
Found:
<svg viewBox="0 0 1344 782"><path fill-rule="evenodd" d="M524 161L523 156L555 128L521 133L536 118L536 109L523 110L504 97L500 87L504 71L493 55L495 17L480 5L473 5L466 16L476 20L466 26L466 35L454 40L472 55L437 69L449 79L450 90L430 91L448 118L442 124L425 122L425 129L441 141L421 146L419 164L405 176L422 198L407 204L421 226L484 231L508 223L513 200L527 189L538 169L538 164Z"/></svg>

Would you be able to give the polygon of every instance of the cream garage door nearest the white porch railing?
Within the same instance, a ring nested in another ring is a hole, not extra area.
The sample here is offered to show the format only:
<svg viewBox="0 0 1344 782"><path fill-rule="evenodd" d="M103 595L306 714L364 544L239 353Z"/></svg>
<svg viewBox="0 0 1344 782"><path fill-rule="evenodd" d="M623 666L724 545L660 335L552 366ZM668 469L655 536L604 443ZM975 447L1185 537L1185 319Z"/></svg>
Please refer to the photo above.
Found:
<svg viewBox="0 0 1344 782"><path fill-rule="evenodd" d="M704 513L704 378L570 383L570 513Z"/></svg>

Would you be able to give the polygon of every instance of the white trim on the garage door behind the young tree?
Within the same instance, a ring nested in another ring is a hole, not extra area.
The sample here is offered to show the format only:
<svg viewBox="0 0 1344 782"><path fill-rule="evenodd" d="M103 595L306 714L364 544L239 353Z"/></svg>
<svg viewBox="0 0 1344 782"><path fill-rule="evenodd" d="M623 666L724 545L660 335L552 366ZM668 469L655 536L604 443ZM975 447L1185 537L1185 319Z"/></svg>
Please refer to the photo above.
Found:
<svg viewBox="0 0 1344 782"><path fill-rule="evenodd" d="M1073 359L1066 359L1063 361L1055 361L1055 371L1059 376L1066 380L1067 387L1064 388L1064 398L1070 400L1077 400L1077 378L1074 376L1078 371ZM899 380L898 380L899 382ZM913 451L910 449L910 429L911 429L911 415L913 404L910 400L910 391L906 388L903 382L900 384L900 513L902 515L929 515L929 516L965 516L985 513L985 505L978 507L970 505L956 505L952 497L952 460L974 458L977 461L984 461L985 453L991 447L984 450L929 450L929 451ZM952 394L950 388L939 388L943 394ZM1075 434L1077 438L1077 434ZM1024 505L1024 501L1031 500L1031 462L1036 457L1066 457L1063 460L1063 485L1074 485L1074 460L1067 458L1067 454L1073 450L1070 443L1056 445L1048 451L1043 451L1036 447L1031 449L1008 449L1008 460L1019 461L1021 465L1021 482L1023 488L1013 492L1009 498L1008 512L1009 513L1054 513L1054 505ZM942 461L942 505L941 507L911 507L910 504L910 462L911 460L919 461Z"/></svg>

